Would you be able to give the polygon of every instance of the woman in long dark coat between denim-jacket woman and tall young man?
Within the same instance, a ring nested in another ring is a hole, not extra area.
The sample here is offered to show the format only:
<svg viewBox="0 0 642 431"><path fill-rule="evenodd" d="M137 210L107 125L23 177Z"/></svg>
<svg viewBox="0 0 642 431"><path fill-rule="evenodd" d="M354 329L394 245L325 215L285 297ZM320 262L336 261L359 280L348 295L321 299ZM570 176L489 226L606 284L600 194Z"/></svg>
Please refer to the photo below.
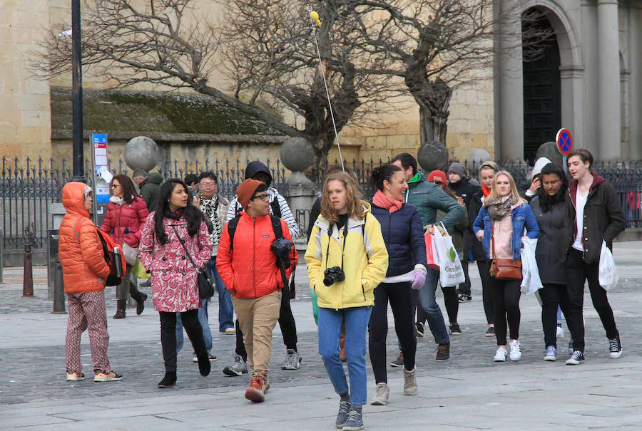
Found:
<svg viewBox="0 0 642 431"><path fill-rule="evenodd" d="M571 301L566 286L564 262L557 259L557 243L564 227L566 191L569 182L559 165L549 163L541 170L541 187L531 200L531 209L539 226L535 257L539 276L544 285L541 297L541 326L544 328L546 355L544 360L557 359L557 308L561 308L569 325L571 337L579 336L582 328L582 311Z"/></svg>

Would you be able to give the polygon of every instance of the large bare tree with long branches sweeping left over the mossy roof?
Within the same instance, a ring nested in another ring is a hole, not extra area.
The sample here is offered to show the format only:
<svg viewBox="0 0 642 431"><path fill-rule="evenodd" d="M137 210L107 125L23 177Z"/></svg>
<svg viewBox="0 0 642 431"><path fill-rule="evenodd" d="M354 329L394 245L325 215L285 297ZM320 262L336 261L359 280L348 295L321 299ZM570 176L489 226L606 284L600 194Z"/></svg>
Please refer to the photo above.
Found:
<svg viewBox="0 0 642 431"><path fill-rule="evenodd" d="M308 11L295 0L221 1L225 19L215 23L200 16L195 4L146 0L137 8L130 0L96 0L83 10L83 65L98 68L112 87L149 83L222 100L280 133L306 137L318 166L336 135ZM323 20L317 38L337 133L349 122L368 124L402 88L384 73L361 70L387 68L389 56L371 56L356 45L358 21L345 1L313 5ZM71 70L71 41L58 36L63 28L43 41L31 65L36 76ZM233 96L211 83L219 55ZM292 125L300 119L302 127Z"/></svg>

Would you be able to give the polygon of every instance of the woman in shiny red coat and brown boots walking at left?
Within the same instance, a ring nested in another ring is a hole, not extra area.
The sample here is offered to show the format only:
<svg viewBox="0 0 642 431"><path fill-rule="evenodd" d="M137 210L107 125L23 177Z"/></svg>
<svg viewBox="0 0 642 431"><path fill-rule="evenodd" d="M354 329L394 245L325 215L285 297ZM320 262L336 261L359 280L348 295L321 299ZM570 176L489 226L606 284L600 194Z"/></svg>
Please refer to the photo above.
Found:
<svg viewBox="0 0 642 431"><path fill-rule="evenodd" d="M101 231L108 234L113 242L123 246L127 260L127 271L123 282L116 288L118 306L113 318L125 318L127 294L136 300L136 314L143 313L147 295L138 291L136 277L131 275L131 267L136 261L138 244L141 242L141 229L149 212L147 204L136 194L133 182L125 174L118 174L111 180L111 198L107 205L105 221Z"/></svg>

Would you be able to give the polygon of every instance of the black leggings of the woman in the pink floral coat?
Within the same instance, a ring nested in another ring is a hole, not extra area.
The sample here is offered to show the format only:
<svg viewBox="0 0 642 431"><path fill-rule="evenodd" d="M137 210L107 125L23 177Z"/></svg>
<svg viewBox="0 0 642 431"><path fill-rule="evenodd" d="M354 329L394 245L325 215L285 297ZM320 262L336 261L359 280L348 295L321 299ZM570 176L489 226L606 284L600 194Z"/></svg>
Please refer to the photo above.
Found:
<svg viewBox="0 0 642 431"><path fill-rule="evenodd" d="M163 347L163 361L165 371L176 372L176 313L159 311L161 316L161 346ZM198 310L183 311L180 313L180 320L183 321L183 328L188 334L197 358L207 357L205 350L205 338L203 328L198 323Z"/></svg>

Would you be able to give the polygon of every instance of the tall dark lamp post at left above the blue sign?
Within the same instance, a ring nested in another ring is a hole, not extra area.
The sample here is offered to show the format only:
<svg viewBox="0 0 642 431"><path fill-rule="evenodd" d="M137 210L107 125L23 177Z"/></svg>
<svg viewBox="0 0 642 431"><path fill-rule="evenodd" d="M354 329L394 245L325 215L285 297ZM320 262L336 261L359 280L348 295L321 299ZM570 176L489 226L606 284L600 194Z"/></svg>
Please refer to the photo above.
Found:
<svg viewBox="0 0 642 431"><path fill-rule="evenodd" d="M71 180L86 182L83 166L83 54L80 16L80 0L71 0L71 123L73 129L73 177Z"/></svg>

